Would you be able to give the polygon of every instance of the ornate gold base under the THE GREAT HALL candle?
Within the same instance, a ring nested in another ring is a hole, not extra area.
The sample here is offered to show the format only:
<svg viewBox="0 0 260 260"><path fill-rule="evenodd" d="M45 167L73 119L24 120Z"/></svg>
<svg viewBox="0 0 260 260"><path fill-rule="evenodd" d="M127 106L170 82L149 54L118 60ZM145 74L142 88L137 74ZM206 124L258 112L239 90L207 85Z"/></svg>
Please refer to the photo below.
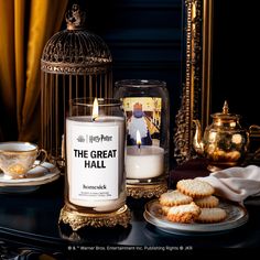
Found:
<svg viewBox="0 0 260 260"><path fill-rule="evenodd" d="M127 205L112 213L87 214L79 213L65 205L59 214L58 223L68 224L74 231L83 227L113 227L121 225L127 228L131 214Z"/></svg>

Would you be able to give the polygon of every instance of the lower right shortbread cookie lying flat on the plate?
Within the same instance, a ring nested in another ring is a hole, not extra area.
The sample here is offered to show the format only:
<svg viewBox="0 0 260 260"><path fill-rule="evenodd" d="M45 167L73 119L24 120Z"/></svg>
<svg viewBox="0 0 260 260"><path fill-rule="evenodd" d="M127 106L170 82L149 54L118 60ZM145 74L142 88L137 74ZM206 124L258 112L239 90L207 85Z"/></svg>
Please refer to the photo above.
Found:
<svg viewBox="0 0 260 260"><path fill-rule="evenodd" d="M196 219L198 223L220 223L227 217L227 213L223 208L201 208L202 213Z"/></svg>

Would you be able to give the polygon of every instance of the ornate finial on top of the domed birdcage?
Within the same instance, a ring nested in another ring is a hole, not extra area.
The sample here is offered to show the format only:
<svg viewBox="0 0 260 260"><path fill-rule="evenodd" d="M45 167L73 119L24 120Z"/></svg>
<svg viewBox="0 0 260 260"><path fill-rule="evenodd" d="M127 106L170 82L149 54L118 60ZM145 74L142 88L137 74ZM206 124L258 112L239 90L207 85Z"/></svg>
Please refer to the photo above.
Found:
<svg viewBox="0 0 260 260"><path fill-rule="evenodd" d="M66 14L67 30L80 30L85 28L86 12L80 10L76 3L73 4Z"/></svg>

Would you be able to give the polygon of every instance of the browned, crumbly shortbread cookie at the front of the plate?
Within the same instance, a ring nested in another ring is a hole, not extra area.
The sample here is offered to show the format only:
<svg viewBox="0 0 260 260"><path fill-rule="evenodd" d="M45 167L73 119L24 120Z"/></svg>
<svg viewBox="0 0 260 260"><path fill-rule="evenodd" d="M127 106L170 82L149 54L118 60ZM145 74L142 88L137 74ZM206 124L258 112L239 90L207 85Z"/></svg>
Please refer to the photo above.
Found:
<svg viewBox="0 0 260 260"><path fill-rule="evenodd" d="M192 223L201 214L201 208L194 203L171 207L167 213L167 220L173 223Z"/></svg>

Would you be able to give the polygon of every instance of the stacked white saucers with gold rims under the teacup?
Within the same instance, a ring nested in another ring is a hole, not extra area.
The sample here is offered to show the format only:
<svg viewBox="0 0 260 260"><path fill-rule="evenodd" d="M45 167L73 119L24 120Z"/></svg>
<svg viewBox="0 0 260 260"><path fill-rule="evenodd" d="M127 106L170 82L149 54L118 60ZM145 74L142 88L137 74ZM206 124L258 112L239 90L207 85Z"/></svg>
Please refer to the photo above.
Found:
<svg viewBox="0 0 260 260"><path fill-rule="evenodd" d="M39 161L35 162L39 164ZM41 165L35 166L26 173L28 177L24 178L8 178L0 173L0 192L10 193L29 193L39 188L40 185L51 183L57 180L61 175L61 171L52 163L44 162ZM33 177L30 177L33 176ZM41 175L41 176L34 176Z"/></svg>

